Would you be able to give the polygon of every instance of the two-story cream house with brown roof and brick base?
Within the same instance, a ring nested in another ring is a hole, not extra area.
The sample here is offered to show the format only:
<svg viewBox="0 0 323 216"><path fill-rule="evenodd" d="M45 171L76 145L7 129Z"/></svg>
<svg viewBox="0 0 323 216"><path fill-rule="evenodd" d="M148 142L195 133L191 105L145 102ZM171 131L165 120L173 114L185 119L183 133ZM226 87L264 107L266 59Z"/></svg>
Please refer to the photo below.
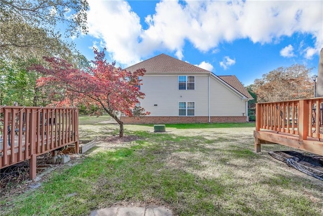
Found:
<svg viewBox="0 0 323 216"><path fill-rule="evenodd" d="M141 107L148 116L122 116L124 123L246 122L252 96L236 76L212 72L160 54L126 68L145 68Z"/></svg>

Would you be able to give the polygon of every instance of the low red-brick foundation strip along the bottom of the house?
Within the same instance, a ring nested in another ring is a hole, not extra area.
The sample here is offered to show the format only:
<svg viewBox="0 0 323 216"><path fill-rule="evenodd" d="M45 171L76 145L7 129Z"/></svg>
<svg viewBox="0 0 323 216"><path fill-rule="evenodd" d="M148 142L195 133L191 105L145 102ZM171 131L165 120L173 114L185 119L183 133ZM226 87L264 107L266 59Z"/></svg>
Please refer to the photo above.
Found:
<svg viewBox="0 0 323 216"><path fill-rule="evenodd" d="M122 116L125 124L208 123L207 116ZM210 122L246 122L246 116L211 116Z"/></svg>

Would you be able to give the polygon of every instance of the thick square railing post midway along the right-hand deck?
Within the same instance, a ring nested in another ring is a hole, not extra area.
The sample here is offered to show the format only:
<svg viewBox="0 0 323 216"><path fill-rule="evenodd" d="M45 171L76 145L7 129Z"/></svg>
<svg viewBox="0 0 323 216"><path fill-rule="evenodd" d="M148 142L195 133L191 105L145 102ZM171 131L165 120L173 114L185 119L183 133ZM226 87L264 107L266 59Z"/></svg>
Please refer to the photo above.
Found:
<svg viewBox="0 0 323 216"><path fill-rule="evenodd" d="M308 100L299 101L299 113L298 113L298 135L299 140L307 140L308 125L309 125L309 104Z"/></svg>

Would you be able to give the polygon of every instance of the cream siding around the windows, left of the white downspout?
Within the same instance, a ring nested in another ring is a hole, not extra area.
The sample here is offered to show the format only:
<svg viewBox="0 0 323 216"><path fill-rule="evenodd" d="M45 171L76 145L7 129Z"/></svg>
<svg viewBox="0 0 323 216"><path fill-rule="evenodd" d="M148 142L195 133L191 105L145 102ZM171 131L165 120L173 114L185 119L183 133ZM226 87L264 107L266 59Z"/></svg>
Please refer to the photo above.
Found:
<svg viewBox="0 0 323 216"><path fill-rule="evenodd" d="M141 106L149 116L178 116L178 102L188 101L198 104L195 116L207 116L207 75L195 75L195 90L178 90L178 75L144 75L141 92L145 98Z"/></svg>

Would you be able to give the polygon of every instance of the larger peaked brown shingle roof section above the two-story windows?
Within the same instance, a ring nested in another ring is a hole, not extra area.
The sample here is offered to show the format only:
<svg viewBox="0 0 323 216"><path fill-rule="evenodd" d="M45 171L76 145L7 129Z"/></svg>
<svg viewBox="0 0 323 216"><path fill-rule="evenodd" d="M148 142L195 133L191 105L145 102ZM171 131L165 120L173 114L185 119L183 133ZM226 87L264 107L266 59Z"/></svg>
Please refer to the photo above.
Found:
<svg viewBox="0 0 323 216"><path fill-rule="evenodd" d="M160 54L125 69L133 72L140 68L146 69L146 73L210 73L208 70L165 54Z"/></svg>

